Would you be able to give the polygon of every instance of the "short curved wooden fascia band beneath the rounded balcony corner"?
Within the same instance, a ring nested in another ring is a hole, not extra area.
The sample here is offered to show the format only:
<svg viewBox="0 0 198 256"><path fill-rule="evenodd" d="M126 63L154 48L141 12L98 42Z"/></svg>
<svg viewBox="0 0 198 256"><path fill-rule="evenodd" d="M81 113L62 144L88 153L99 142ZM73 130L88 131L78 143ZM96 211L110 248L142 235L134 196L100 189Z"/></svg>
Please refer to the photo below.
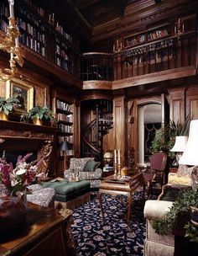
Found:
<svg viewBox="0 0 198 256"><path fill-rule="evenodd" d="M112 90L112 81L84 81L83 82L83 89L105 89L105 90Z"/></svg>

